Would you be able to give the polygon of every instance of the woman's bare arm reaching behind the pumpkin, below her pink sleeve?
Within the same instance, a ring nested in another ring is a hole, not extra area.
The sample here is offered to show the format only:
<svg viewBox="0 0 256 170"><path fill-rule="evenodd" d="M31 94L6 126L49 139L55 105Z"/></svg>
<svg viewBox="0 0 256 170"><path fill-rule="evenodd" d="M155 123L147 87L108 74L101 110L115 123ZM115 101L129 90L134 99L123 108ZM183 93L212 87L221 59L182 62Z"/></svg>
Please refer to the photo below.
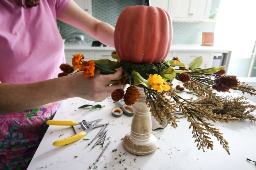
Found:
<svg viewBox="0 0 256 170"><path fill-rule="evenodd" d="M86 32L91 37L99 40L101 43L114 46L114 28L98 19L92 17L81 9L73 0L70 1L67 8L57 18L73 27Z"/></svg>

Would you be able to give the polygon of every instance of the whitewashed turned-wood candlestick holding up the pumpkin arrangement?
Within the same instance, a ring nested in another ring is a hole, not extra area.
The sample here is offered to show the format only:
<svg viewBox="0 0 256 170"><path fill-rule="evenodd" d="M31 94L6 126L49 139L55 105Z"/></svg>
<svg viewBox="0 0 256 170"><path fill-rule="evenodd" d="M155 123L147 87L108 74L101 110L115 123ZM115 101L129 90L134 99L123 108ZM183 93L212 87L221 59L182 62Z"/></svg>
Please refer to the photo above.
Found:
<svg viewBox="0 0 256 170"><path fill-rule="evenodd" d="M157 139L151 134L152 122L150 108L146 105L144 89L139 88L141 98L135 103L131 132L125 135L123 147L133 154L147 155L157 149Z"/></svg>

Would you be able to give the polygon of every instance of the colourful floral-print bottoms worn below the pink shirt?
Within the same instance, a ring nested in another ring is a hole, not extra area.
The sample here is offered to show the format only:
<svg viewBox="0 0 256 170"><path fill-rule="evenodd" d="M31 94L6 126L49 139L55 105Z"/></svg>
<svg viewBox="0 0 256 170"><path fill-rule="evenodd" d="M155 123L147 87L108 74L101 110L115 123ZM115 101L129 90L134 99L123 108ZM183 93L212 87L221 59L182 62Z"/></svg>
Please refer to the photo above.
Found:
<svg viewBox="0 0 256 170"><path fill-rule="evenodd" d="M27 169L60 103L0 114L0 169Z"/></svg>

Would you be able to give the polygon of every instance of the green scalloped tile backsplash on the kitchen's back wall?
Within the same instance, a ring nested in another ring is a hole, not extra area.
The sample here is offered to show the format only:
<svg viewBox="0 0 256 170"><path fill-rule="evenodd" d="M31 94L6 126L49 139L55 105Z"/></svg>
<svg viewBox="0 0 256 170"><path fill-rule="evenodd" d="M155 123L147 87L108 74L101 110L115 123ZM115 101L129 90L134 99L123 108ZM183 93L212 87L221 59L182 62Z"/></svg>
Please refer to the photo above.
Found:
<svg viewBox="0 0 256 170"><path fill-rule="evenodd" d="M119 14L128 6L142 5L142 0L92 0L93 17L115 27ZM72 33L81 33L85 41L91 43L95 39L83 31L57 20L62 28L61 35L68 42ZM173 22L173 44L201 44L202 32L214 32L214 22Z"/></svg>

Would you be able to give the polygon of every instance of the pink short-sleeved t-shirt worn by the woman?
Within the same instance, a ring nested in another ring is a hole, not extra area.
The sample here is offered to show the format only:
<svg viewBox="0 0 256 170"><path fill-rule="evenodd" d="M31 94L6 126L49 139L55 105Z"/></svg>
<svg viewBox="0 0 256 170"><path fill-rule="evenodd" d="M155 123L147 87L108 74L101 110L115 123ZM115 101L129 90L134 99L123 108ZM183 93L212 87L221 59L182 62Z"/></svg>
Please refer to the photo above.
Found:
<svg viewBox="0 0 256 170"><path fill-rule="evenodd" d="M41 0L23 8L16 0L0 0L0 81L32 83L53 79L65 63L56 16L70 0Z"/></svg>

